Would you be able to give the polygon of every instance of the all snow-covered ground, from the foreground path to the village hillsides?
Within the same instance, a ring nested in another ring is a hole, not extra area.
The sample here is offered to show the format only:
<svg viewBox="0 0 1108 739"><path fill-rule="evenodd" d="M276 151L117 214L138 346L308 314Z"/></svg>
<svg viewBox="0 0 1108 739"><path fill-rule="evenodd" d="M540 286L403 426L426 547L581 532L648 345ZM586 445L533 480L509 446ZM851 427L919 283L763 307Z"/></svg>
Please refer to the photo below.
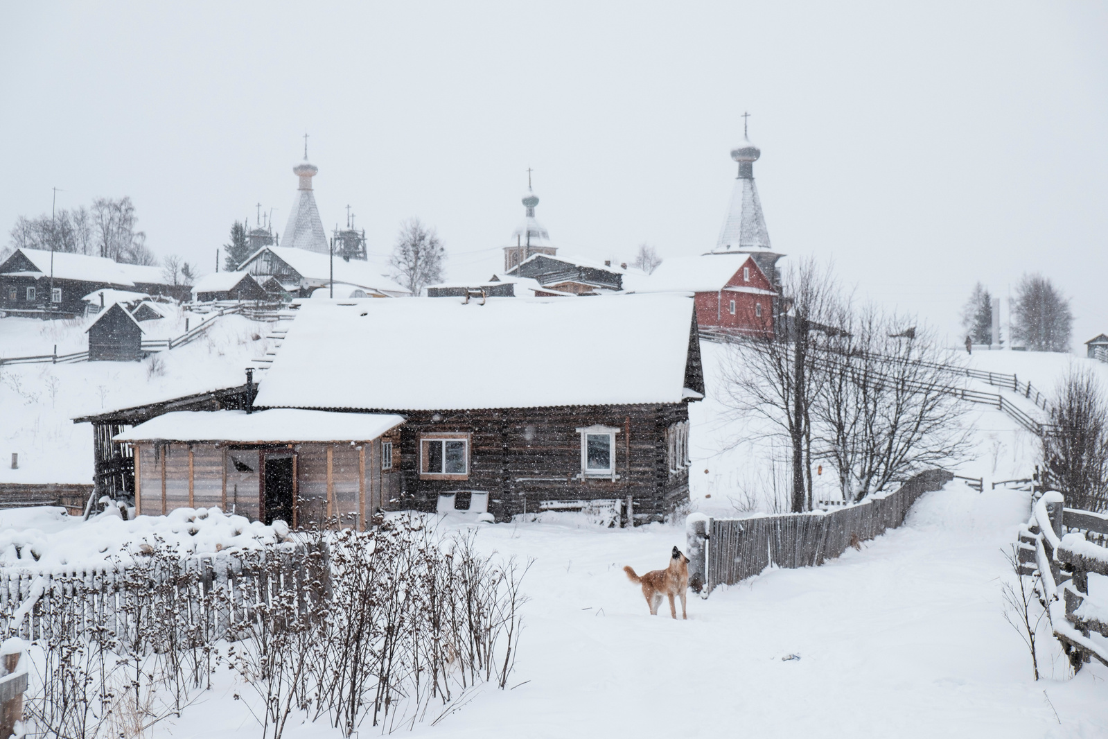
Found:
<svg viewBox="0 0 1108 739"><path fill-rule="evenodd" d="M168 332L179 333L181 324ZM161 352L162 373L152 373L148 362L0 368L0 459L18 451L21 462L19 471L0 466L0 482L89 481L91 432L70 418L237 384L243 368L266 351L269 328L220 318L204 339ZM59 352L76 351L83 329L79 322L3 319L0 349L9 356L49 352L57 342ZM766 491L773 470L759 462L765 450L728 449L735 428L717 394L725 348L706 342L702 349L709 394L690 407L691 507L715 515L771 509ZM1045 390L1071 363L1108 372L1066 355L978 352L971 361L1016 372ZM991 484L1028 476L1037 461L1035 439L994 409L975 408L966 420L977 456L960 472L983 476L983 494L956 481L925 495L903 527L861 552L818 568L768 571L707 599L690 598L687 622L650 617L622 572L625 564L640 573L663 566L671 546L685 546L679 525L602 530L566 517L480 526L482 550L535 558L524 584L531 602L510 684L515 687L486 687L437 727L418 725L413 733L1108 736L1108 669L1094 664L1070 678L1044 629L1045 679L1036 682L1026 648L1002 616L1001 584L1012 577L1003 551L1026 520L1028 501L1026 493L992 491ZM42 515L3 512L0 530L39 528L42 541L59 541L98 525ZM66 550L66 560L72 556ZM799 659L782 659L789 655ZM240 688L224 675L154 736L219 739L259 731L246 702L234 699ZM360 733L372 732L366 727ZM315 723L290 727L286 737L337 733Z"/></svg>

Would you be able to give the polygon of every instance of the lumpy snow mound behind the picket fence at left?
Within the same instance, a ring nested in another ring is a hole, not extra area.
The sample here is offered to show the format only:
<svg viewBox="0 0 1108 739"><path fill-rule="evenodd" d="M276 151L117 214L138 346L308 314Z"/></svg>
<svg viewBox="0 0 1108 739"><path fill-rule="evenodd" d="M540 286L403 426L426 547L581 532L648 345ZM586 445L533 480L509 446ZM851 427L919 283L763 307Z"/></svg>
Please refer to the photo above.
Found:
<svg viewBox="0 0 1108 739"><path fill-rule="evenodd" d="M181 556L189 556L257 550L288 537L284 522L267 526L245 516L228 515L217 507L177 509L168 515L143 515L131 521L124 521L119 511L110 509L89 521L69 517L68 526L10 526L12 519L57 523L58 510L48 511L38 516L12 516L12 512L4 512L0 523L8 527L0 530L0 567L34 574L102 568L126 564L152 547L168 547Z"/></svg>

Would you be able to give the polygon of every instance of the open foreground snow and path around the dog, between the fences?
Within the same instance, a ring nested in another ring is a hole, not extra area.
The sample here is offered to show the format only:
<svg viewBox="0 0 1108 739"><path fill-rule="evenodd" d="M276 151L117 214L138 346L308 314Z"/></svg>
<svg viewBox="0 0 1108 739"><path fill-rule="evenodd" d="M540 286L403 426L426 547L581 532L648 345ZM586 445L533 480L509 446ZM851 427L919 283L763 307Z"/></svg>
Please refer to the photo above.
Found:
<svg viewBox="0 0 1108 739"><path fill-rule="evenodd" d="M664 565L679 528L485 527L484 546L537 557L515 677L530 681L416 735L1108 736L1108 670L1067 678L1044 633L1036 684L1002 618L1024 494L948 487L861 552L690 598L687 622L648 616L620 571Z"/></svg>

